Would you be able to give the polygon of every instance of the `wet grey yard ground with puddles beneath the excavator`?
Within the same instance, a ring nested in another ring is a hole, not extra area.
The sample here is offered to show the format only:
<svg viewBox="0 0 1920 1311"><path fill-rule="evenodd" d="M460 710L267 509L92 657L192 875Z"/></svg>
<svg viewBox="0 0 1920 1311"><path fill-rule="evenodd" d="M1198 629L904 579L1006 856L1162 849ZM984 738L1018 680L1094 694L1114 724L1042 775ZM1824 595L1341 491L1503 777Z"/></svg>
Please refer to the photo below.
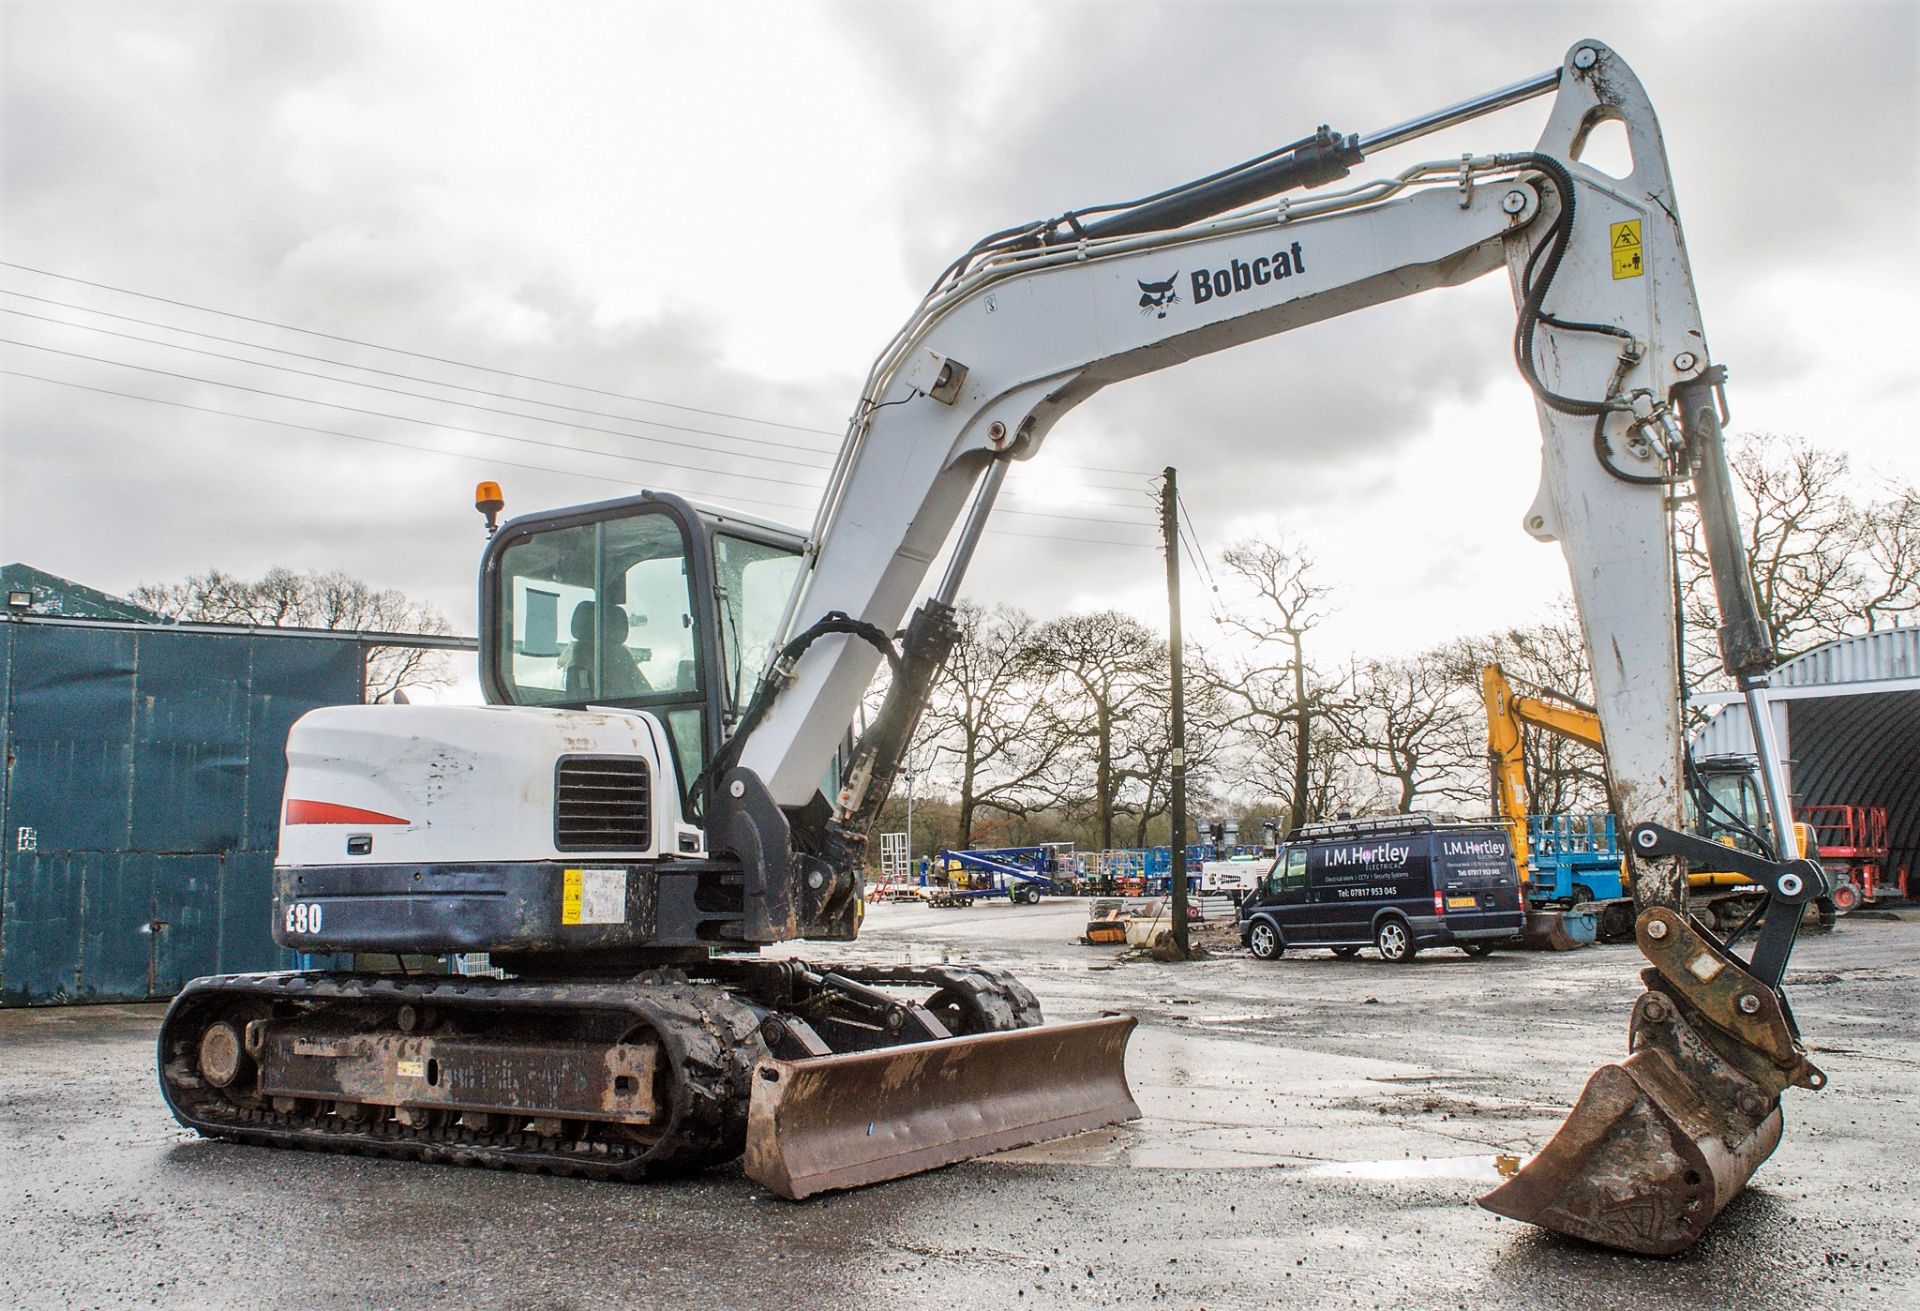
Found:
<svg viewBox="0 0 1920 1311"><path fill-rule="evenodd" d="M1185 965L1073 946L1085 902L883 906L870 960L1018 969L1131 1010L1146 1119L787 1204L737 1171L599 1184L202 1142L154 1088L157 1008L0 1012L0 1307L1912 1307L1920 918L1807 939L1832 1075L1676 1259L1471 1205L1620 1054L1628 946ZM828 952L810 952L826 956Z"/></svg>

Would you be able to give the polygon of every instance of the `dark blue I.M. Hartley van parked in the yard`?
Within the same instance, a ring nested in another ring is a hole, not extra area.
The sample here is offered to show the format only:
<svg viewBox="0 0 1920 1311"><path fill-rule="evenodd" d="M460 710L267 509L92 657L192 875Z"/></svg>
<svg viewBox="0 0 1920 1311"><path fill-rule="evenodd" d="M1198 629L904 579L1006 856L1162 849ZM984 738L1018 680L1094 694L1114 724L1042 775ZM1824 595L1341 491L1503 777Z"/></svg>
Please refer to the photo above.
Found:
<svg viewBox="0 0 1920 1311"><path fill-rule="evenodd" d="M1240 942L1260 960L1369 944L1396 965L1427 946L1486 956L1524 923L1505 827L1428 814L1306 823L1240 902Z"/></svg>

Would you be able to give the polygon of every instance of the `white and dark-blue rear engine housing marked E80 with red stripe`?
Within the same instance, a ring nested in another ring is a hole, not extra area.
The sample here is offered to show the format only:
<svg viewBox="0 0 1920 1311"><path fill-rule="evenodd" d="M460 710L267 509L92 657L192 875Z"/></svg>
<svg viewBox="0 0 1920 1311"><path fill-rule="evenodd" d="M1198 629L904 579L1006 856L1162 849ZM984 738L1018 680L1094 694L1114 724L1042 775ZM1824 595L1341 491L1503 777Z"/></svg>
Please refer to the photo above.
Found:
<svg viewBox="0 0 1920 1311"><path fill-rule="evenodd" d="M730 937L739 875L682 825L660 722L332 706L294 724L275 941L305 952L601 952Z"/></svg>

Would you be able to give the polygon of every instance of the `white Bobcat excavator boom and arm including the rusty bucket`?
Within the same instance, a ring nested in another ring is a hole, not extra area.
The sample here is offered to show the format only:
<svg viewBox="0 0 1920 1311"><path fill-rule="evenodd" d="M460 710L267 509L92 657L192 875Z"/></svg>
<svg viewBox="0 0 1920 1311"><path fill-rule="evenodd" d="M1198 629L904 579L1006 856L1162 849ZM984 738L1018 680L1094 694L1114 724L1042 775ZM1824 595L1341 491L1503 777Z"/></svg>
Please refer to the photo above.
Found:
<svg viewBox="0 0 1920 1311"><path fill-rule="evenodd" d="M1548 92L1553 109L1532 150L1283 194L1344 179L1369 150ZM1624 127L1626 177L1580 163L1607 121ZM1622 822L1680 829L1676 484L1692 478L1701 495L1722 601L1745 585L1745 564L1738 532L1724 532L1734 518L1718 445L1722 374L1707 351L1659 125L1632 69L1596 40L1578 42L1557 71L1476 102L1373 136L1321 129L1152 203L1010 228L956 261L874 367L787 607L791 658L772 664L730 764L764 781L799 843L856 854L1006 461L1033 457L1066 411L1112 382L1501 265L1542 432L1542 486L1524 528L1565 551ZM1281 411L1284 428L1284 393ZM845 791L822 804L818 779L879 662L845 620L893 633L962 514L947 574L914 624L918 649L910 643L895 704L877 720L883 731L862 739ZM839 616L839 628L818 628L822 616ZM1738 626L1738 614L1728 622ZM1732 633L1730 647L1743 678L1766 668L1751 633ZM806 833L822 814L835 816L826 841ZM1636 850L1632 871L1642 944L1657 925L1692 935L1680 860ZM1784 1083L1755 1071L1782 1069L1784 1031L1768 1038L1764 1061L1749 1060L1759 1037L1722 1023L1713 998L1713 979L1745 967L1711 935L1678 973L1663 965L1668 952L1649 956L1634 1056L1594 1077L1553 1144L1486 1198L1492 1209L1634 1251L1674 1251L1778 1142ZM1791 1058L1789 1033L1786 1042ZM804 1109L789 1098L787 1113Z"/></svg>

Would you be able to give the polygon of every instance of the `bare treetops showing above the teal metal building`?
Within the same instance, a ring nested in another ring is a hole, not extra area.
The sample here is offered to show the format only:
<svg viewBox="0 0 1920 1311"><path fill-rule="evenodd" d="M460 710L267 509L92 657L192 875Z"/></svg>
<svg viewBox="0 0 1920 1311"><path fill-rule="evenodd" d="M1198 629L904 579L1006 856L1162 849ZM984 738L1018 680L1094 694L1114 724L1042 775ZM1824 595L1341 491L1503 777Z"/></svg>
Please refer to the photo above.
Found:
<svg viewBox="0 0 1920 1311"><path fill-rule="evenodd" d="M328 628L378 633L445 635L453 628L426 601L342 574L269 568L257 580L207 570L177 584L142 584L132 599L167 618L261 628ZM367 701L403 687L442 687L451 681L438 651L374 647L367 653Z"/></svg>

